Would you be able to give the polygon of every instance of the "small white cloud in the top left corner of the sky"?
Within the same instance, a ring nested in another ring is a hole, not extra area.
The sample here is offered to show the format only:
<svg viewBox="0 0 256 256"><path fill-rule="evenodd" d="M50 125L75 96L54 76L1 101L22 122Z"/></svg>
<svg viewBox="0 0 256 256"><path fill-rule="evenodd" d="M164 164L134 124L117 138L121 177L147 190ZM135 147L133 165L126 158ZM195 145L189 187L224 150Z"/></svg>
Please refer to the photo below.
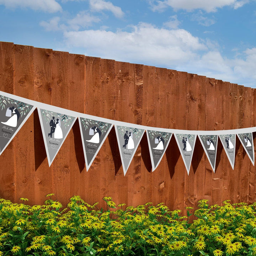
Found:
<svg viewBox="0 0 256 256"><path fill-rule="evenodd" d="M36 11L57 12L62 7L55 0L0 0L6 8L31 8Z"/></svg>

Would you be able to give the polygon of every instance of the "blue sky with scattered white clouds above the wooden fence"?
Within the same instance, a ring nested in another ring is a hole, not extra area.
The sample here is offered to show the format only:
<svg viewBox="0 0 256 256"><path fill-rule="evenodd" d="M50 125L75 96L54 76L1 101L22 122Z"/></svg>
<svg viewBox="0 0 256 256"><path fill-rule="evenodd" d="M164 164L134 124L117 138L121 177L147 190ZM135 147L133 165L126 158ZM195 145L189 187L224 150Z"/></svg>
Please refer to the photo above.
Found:
<svg viewBox="0 0 256 256"><path fill-rule="evenodd" d="M0 41L256 87L256 0L0 0Z"/></svg>

